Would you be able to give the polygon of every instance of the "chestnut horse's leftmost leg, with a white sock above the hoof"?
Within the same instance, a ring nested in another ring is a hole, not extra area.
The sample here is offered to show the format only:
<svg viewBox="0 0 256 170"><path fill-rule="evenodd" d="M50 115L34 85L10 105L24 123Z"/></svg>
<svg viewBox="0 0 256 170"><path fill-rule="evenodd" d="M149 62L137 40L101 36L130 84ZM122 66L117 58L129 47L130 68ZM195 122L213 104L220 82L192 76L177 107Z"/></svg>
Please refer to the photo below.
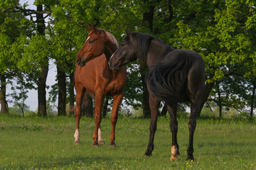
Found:
<svg viewBox="0 0 256 170"><path fill-rule="evenodd" d="M76 106L75 106L75 142L74 145L79 145L80 144L80 134L79 134L79 125L80 125L80 118L81 118L81 106L82 106L82 98L85 94L85 89L80 88L80 86L76 86L76 96L75 96L75 100L76 100Z"/></svg>

